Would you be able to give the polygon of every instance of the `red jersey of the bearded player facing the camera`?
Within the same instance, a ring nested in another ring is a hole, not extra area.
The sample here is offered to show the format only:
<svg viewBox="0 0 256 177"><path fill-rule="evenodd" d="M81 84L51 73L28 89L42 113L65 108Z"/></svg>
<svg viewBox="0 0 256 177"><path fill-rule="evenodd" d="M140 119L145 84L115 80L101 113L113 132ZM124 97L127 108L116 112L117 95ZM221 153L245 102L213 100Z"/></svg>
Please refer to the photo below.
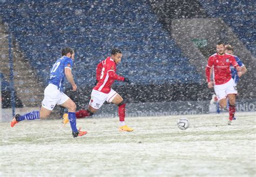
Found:
<svg viewBox="0 0 256 177"><path fill-rule="evenodd" d="M232 55L225 53L224 55L218 55L215 53L208 59L206 66L206 78L207 81L210 79L210 69L213 66L213 76L215 85L221 85L227 83L231 79L230 65L236 67L237 61Z"/></svg>

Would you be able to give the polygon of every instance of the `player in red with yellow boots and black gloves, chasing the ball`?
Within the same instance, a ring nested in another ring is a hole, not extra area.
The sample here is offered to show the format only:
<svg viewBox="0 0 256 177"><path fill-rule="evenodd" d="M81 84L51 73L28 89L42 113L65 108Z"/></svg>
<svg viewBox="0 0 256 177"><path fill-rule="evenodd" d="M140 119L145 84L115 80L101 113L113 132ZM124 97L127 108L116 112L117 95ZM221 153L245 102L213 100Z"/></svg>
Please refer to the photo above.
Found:
<svg viewBox="0 0 256 177"><path fill-rule="evenodd" d="M113 103L118 106L118 115L120 121L120 131L133 131L132 128L125 125L125 101L123 98L114 91L111 86L114 80L126 81L130 84L129 79L118 76L116 74L116 64L121 62L122 51L119 49L113 49L111 51L111 57L107 57L105 60L97 65L96 80L97 85L93 87L91 92L91 100L87 110L79 110L76 112L76 118L89 117L97 112L97 110L104 104L105 101ZM66 114L63 115L63 124L65 125L69 119Z"/></svg>

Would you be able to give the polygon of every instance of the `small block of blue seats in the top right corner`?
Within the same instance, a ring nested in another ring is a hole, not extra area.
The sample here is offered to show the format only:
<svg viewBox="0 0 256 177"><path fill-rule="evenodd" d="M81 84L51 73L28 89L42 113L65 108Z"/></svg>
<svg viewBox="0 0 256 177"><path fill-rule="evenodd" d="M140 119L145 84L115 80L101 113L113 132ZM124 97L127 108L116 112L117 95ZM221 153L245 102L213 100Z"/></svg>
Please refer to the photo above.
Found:
<svg viewBox="0 0 256 177"><path fill-rule="evenodd" d="M254 1L199 0L210 17L221 17L231 26L247 49L256 56L256 29Z"/></svg>

